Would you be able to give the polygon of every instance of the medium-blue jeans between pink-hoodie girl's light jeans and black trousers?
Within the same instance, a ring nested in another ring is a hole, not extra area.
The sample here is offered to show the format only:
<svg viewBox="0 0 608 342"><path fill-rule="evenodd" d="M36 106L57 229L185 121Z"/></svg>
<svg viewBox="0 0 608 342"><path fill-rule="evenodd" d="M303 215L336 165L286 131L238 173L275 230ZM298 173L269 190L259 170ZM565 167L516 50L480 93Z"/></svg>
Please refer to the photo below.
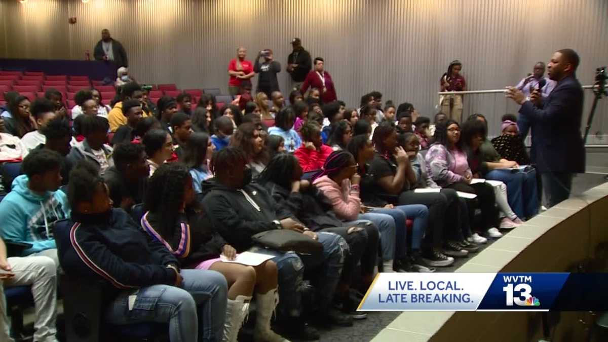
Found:
<svg viewBox="0 0 608 342"><path fill-rule="evenodd" d="M420 250L424 232L429 224L429 209L426 206L423 204L408 204L395 206L393 209L376 209L374 212L391 215L395 220L395 257L401 258L407 254L407 218L413 220L412 250Z"/></svg>

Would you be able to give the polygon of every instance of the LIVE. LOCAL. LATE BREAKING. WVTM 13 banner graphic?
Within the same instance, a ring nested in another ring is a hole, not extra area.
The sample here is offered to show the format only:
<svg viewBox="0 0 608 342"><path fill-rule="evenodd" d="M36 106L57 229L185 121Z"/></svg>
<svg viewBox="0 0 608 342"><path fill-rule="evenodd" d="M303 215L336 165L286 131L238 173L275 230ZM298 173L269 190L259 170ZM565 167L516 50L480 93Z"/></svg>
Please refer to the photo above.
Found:
<svg viewBox="0 0 608 342"><path fill-rule="evenodd" d="M361 311L608 310L608 273L379 273Z"/></svg>

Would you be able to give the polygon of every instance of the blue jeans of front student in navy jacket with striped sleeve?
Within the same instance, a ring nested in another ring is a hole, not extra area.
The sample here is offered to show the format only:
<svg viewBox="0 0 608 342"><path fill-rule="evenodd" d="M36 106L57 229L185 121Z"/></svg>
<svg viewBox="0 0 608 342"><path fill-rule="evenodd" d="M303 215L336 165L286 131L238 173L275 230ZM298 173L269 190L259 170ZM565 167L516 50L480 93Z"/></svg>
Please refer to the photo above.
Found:
<svg viewBox="0 0 608 342"><path fill-rule="evenodd" d="M122 291L109 305L111 324L169 323L171 342L219 341L224 329L228 285L216 271L182 270L183 288L151 285ZM137 295L129 310L130 295Z"/></svg>

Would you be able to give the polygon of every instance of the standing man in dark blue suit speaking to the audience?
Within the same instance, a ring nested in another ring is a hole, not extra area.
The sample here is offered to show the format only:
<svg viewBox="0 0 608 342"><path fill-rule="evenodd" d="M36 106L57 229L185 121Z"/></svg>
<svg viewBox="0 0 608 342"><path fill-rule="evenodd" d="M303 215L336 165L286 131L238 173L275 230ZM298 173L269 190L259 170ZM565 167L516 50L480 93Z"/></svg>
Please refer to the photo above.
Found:
<svg viewBox="0 0 608 342"><path fill-rule="evenodd" d="M585 172L582 87L576 79L579 61L572 49L553 54L547 74L558 84L547 99L537 89L529 99L517 88L506 91L506 97L521 105L518 125L522 138L532 129L531 159L541 173L548 206L570 197L573 174Z"/></svg>

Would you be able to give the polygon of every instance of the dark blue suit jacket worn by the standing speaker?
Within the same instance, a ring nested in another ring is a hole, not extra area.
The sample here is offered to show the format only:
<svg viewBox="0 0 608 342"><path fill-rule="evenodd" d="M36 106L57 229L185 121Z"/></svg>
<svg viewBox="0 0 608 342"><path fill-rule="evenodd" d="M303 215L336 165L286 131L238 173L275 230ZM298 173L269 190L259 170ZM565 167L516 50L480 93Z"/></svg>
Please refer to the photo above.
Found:
<svg viewBox="0 0 608 342"><path fill-rule="evenodd" d="M542 106L527 101L519 109L520 131L532 128L530 157L539 172L585 172L582 97L581 83L571 75L558 82Z"/></svg>

